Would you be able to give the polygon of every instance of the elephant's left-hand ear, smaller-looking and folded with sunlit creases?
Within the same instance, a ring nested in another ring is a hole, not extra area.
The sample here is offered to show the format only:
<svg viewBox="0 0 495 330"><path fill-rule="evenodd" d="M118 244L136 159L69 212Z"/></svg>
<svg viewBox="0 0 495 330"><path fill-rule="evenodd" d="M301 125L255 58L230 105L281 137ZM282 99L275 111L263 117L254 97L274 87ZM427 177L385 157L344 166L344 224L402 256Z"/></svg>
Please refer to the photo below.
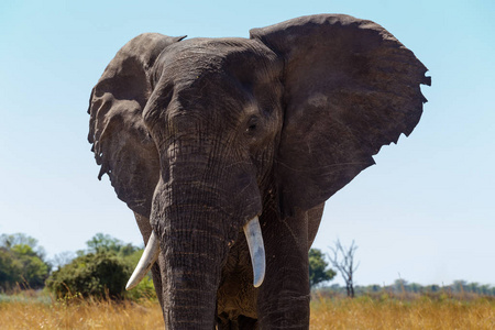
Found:
<svg viewBox="0 0 495 330"><path fill-rule="evenodd" d="M160 165L142 112L152 92L153 64L182 38L146 33L131 40L107 66L89 100L88 141L101 165L98 178L107 173L117 196L145 217L150 216Z"/></svg>

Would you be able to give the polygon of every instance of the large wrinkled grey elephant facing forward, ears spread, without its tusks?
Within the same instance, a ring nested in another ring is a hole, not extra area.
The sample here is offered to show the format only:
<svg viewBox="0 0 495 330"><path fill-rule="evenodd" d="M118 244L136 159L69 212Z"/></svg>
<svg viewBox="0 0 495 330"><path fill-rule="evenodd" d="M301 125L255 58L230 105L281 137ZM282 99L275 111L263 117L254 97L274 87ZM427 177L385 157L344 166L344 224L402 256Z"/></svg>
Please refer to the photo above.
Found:
<svg viewBox="0 0 495 330"><path fill-rule="evenodd" d="M382 26L346 15L123 46L92 90L89 142L144 241L160 239L167 329L308 329L323 202L413 131L426 72ZM242 234L255 216L260 288Z"/></svg>

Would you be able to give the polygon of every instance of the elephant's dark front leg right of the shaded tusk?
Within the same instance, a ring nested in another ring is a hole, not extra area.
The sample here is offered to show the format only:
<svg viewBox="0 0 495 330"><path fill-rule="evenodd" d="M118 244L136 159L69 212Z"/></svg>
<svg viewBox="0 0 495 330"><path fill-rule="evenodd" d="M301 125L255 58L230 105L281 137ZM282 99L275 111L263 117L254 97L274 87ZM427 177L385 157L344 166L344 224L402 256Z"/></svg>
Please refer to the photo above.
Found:
<svg viewBox="0 0 495 330"><path fill-rule="evenodd" d="M308 212L263 223L266 275L257 299L260 329L308 329Z"/></svg>

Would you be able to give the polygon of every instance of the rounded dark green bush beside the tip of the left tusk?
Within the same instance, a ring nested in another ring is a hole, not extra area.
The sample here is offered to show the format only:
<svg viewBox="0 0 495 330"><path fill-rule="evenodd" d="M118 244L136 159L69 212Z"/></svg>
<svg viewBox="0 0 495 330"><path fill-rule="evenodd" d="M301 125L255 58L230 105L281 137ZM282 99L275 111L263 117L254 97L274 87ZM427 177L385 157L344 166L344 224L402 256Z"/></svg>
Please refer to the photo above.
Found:
<svg viewBox="0 0 495 330"><path fill-rule="evenodd" d="M46 280L58 297L122 298L131 275L129 265L113 253L89 253L54 272Z"/></svg>

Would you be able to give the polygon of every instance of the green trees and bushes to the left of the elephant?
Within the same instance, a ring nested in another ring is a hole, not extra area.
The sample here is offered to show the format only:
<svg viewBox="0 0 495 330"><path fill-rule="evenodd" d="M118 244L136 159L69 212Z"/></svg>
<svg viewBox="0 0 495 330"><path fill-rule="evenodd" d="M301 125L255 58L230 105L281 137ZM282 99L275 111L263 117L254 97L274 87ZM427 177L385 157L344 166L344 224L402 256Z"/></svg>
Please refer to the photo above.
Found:
<svg viewBox="0 0 495 330"><path fill-rule="evenodd" d="M0 293L46 288L57 297L155 298L150 276L136 289L125 283L143 253L142 248L97 233L87 249L47 260L37 240L23 233L0 235Z"/></svg>

